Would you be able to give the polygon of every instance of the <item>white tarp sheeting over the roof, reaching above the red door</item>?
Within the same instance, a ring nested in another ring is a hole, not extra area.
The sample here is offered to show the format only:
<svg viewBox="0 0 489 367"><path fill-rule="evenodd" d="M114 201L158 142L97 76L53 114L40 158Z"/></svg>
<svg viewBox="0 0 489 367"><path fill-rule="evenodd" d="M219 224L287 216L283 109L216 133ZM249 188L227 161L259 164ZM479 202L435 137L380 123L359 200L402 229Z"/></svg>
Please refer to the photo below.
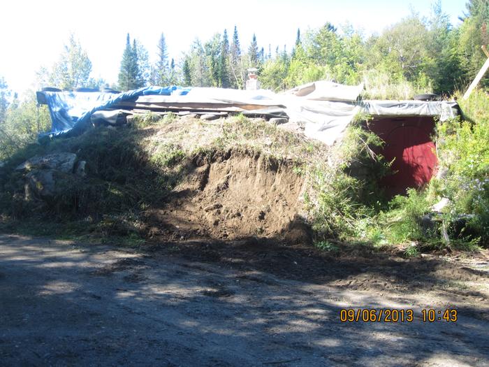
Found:
<svg viewBox="0 0 489 367"><path fill-rule="evenodd" d="M168 104L177 103L199 106L235 106L243 110L260 108L282 108L289 116L289 122L305 127L309 138L333 144L353 120L364 110L379 116L439 116L441 120L456 115L456 103L442 101L363 101L357 99L363 90L360 85L340 85L335 82L319 81L296 87L284 93L274 93L267 89L238 90L224 88L194 87L188 94L171 96L139 96L136 103Z"/></svg>

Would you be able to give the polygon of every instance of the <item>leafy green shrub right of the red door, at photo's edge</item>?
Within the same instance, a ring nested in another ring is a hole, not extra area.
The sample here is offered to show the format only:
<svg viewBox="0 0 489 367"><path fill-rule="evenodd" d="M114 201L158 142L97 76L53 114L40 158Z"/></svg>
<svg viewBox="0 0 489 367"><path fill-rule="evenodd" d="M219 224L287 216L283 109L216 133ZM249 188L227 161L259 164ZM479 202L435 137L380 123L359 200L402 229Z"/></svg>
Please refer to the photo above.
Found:
<svg viewBox="0 0 489 367"><path fill-rule="evenodd" d="M465 121L437 125L440 165L445 178L433 180L437 194L450 199L447 220L467 217L467 232L489 239L489 96L476 90L460 101ZM437 182L438 181L438 182Z"/></svg>

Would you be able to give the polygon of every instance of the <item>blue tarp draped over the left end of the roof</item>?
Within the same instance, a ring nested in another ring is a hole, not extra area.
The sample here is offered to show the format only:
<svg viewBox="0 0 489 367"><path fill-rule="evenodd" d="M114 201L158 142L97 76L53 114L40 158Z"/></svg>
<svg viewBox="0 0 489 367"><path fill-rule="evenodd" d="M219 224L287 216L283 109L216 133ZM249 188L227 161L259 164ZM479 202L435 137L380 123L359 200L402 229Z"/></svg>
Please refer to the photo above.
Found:
<svg viewBox="0 0 489 367"><path fill-rule="evenodd" d="M143 87L119 94L101 92L43 92L50 110L52 128L49 136L80 134L90 124L90 117L98 110L116 106L123 101L136 101L138 96L172 94L184 95L191 88Z"/></svg>

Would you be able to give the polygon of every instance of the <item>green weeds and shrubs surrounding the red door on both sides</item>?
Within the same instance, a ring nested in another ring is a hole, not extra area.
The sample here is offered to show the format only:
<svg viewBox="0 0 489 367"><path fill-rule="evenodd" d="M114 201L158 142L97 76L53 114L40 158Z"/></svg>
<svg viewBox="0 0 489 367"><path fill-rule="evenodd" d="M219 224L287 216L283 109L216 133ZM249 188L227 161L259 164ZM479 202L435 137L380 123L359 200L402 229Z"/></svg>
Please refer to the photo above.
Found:
<svg viewBox="0 0 489 367"><path fill-rule="evenodd" d="M376 136L350 127L329 164L310 171L312 190L306 194L316 241L407 245L406 256L445 247L474 251L487 247L489 233L489 95L477 90L460 100L460 118L437 123L441 174L421 190L388 201L372 182L388 172L389 162L373 154ZM359 117L367 121L367 117ZM336 158L335 158L336 157ZM333 164L331 164L333 161ZM358 177L367 166L372 176ZM441 213L432 206L448 199Z"/></svg>

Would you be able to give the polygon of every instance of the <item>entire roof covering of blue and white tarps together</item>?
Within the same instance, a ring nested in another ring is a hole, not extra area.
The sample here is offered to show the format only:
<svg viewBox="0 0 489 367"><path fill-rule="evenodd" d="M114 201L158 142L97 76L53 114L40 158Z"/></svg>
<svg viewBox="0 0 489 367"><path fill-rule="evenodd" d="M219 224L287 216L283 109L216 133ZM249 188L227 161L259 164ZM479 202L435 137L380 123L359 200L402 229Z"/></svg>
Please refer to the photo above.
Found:
<svg viewBox="0 0 489 367"><path fill-rule="evenodd" d="M363 85L319 81L281 94L267 89L145 87L120 94L38 92L38 101L48 104L52 119L51 136L79 134L91 124L94 113L98 111L96 117L110 115L110 118L115 118L114 110L126 113L152 110L287 117L289 122L303 124L306 136L327 144L334 143L342 135L360 110L385 116L437 115L443 116L442 120L456 115L453 103L446 102L358 102L362 90Z"/></svg>

